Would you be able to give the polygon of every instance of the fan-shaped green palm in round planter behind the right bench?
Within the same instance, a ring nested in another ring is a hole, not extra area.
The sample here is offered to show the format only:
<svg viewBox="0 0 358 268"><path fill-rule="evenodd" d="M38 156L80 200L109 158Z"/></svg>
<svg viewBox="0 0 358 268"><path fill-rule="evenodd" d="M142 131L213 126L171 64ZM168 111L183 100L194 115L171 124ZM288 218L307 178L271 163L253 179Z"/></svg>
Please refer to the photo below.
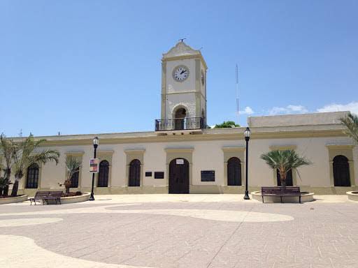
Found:
<svg viewBox="0 0 358 268"><path fill-rule="evenodd" d="M283 188L286 186L286 177L289 170L296 170L302 165L310 165L311 162L299 156L294 150L273 150L266 154L261 155L261 159L266 161L266 164L273 170L280 172L281 185Z"/></svg>

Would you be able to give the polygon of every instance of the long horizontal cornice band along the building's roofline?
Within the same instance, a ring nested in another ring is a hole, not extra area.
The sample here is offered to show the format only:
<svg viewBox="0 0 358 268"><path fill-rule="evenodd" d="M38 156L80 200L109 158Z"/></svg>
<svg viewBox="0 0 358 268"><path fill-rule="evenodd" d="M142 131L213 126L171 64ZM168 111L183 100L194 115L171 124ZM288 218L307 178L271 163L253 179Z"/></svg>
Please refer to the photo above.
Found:
<svg viewBox="0 0 358 268"><path fill-rule="evenodd" d="M253 127L251 139L275 139L291 137L346 137L344 128L338 124L317 126L275 126ZM35 137L45 139L44 146L88 145L92 144L94 136L99 137L100 144L122 144L138 142L178 142L178 141L206 141L206 140L244 140L245 128L210 128L203 133L193 135L157 135L155 131L134 133L103 133L85 135L56 135ZM13 140L21 140L15 137Z"/></svg>

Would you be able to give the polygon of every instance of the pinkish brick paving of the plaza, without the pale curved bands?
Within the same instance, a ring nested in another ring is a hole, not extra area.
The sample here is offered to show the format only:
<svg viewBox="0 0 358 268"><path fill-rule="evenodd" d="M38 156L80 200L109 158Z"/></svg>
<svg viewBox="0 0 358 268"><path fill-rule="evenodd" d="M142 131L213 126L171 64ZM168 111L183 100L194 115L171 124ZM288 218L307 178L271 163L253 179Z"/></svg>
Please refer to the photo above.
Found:
<svg viewBox="0 0 358 268"><path fill-rule="evenodd" d="M262 204L251 200L121 204L103 200L57 206L2 205L0 222L20 218L63 220L1 226L0 236L34 239L37 246L63 258L138 267L358 267L358 202ZM96 213L96 209L106 205L110 205L107 211L121 213ZM93 213L69 213L87 208ZM219 210L228 214L248 211L248 214L286 215L293 220L234 222L123 213L159 209ZM0 267L5 267L1 265L4 262L0 262ZM36 263L27 262L26 267L36 267Z"/></svg>

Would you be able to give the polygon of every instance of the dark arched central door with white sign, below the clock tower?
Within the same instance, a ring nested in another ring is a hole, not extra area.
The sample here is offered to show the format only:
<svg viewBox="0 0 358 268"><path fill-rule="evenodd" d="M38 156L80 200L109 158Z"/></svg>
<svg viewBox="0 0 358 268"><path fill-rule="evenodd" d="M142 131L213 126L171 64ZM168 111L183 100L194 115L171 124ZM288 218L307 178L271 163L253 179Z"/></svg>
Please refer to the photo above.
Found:
<svg viewBox="0 0 358 268"><path fill-rule="evenodd" d="M189 162L184 158L169 163L169 193L189 193Z"/></svg>

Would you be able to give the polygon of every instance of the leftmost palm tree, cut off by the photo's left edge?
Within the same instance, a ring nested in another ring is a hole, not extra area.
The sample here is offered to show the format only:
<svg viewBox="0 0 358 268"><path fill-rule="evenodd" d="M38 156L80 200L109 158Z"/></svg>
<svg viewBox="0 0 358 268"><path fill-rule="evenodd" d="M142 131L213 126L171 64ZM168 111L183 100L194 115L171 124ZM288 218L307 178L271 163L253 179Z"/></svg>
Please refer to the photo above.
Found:
<svg viewBox="0 0 358 268"><path fill-rule="evenodd" d="M13 141L8 140L6 136L0 135L0 151L5 158L5 167L3 168L3 196L8 195L8 186L10 184L11 165L13 165ZM1 168L2 169L2 168ZM7 183L7 185L6 185Z"/></svg>

